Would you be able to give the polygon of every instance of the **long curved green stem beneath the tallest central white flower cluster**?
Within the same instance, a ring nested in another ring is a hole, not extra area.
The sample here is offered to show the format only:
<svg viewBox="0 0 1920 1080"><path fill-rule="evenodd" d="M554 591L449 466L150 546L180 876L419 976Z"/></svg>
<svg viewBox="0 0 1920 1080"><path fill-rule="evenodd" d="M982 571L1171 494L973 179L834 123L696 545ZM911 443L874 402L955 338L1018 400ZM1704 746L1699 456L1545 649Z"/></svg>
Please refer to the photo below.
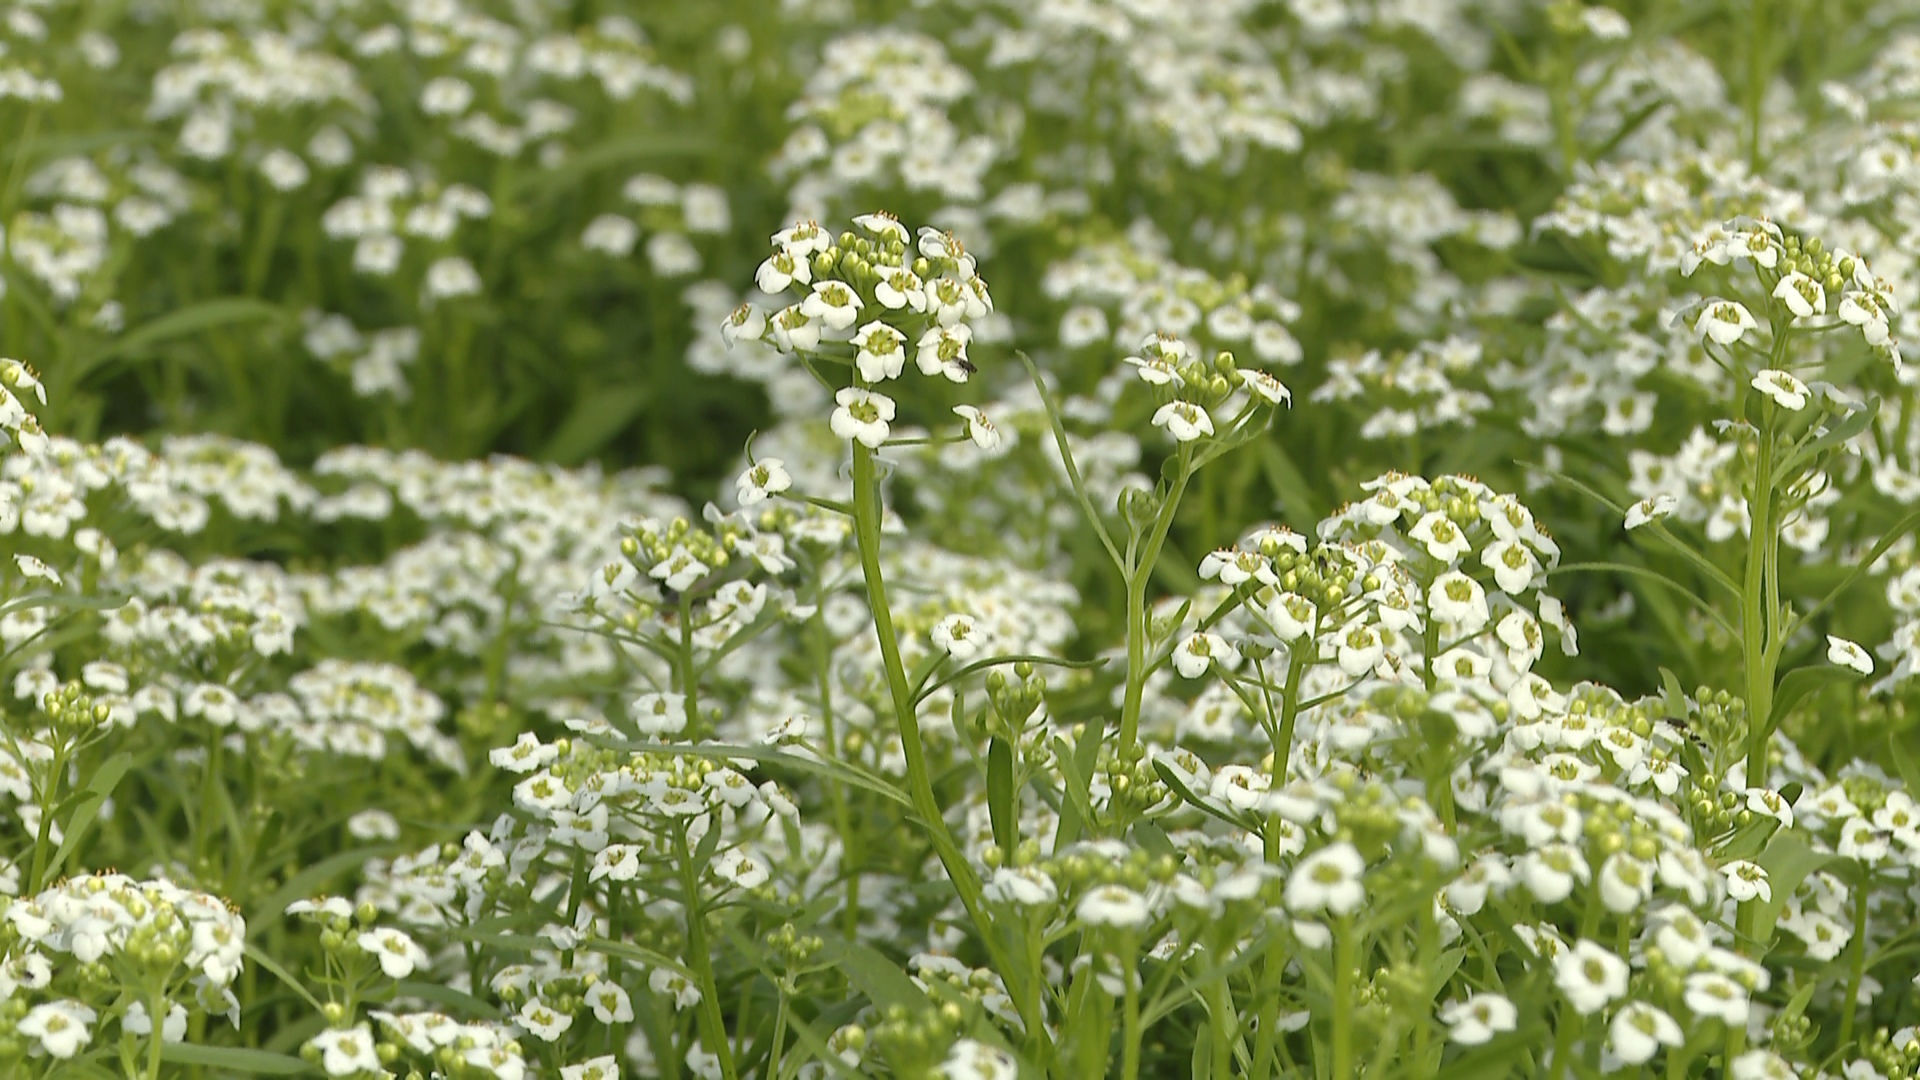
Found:
<svg viewBox="0 0 1920 1080"><path fill-rule="evenodd" d="M879 657L887 671L887 692L893 698L893 715L900 728L900 755L906 757L906 788L914 801L914 811L925 826L927 840L933 844L941 867L947 869L947 876L952 880L968 919L979 932L979 940L987 947L995 970L1000 972L1008 986L1039 978L1039 972L1027 972L1023 967L1014 965L1002 947L981 901L979 876L947 830L947 817L941 813L939 798L933 794L933 774L927 769L927 751L920 738L920 719L914 713L914 690L906 680L906 665L900 661L900 640L893 630L893 609L887 605L887 582L879 573L879 477L874 467L874 452L860 442L852 444L852 532L854 544L860 550L860 573L866 578L866 600L874 615L874 632L879 638ZM1021 1005L1025 997L1016 995L1014 1001ZM1029 1015L1029 1009L1021 1007L1020 1020L1027 1030L1027 1038L1037 1047L1044 1045L1039 1042L1046 1038L1044 1019Z"/></svg>

